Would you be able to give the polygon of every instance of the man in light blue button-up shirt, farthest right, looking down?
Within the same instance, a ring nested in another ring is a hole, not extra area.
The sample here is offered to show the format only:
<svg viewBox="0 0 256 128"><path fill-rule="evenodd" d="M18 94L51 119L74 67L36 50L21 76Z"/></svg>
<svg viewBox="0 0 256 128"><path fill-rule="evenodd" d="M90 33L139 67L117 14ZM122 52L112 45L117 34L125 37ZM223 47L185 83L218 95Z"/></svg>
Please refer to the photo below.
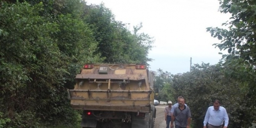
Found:
<svg viewBox="0 0 256 128"><path fill-rule="evenodd" d="M206 111L204 128L206 128L206 125L208 128L222 128L223 121L225 121L223 128L227 128L229 124L227 111L224 107L220 106L219 100L215 100L213 106L210 106Z"/></svg>

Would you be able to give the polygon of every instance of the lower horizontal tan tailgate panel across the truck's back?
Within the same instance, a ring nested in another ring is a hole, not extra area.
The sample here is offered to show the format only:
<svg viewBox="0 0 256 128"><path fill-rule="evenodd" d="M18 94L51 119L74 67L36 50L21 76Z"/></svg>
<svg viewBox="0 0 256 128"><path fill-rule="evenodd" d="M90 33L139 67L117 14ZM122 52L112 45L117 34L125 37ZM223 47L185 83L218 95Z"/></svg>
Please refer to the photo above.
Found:
<svg viewBox="0 0 256 128"><path fill-rule="evenodd" d="M149 112L151 90L69 90L77 110Z"/></svg>

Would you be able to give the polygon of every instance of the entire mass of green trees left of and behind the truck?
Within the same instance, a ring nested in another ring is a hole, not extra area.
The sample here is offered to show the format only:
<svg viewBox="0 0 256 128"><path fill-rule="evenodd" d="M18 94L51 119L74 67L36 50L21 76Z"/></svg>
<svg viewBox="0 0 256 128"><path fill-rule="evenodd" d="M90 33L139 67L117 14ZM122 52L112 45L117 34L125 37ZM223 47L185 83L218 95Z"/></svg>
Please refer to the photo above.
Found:
<svg viewBox="0 0 256 128"><path fill-rule="evenodd" d="M83 0L0 1L0 128L74 128L85 63L147 63L154 39ZM78 126L79 127L79 126Z"/></svg>

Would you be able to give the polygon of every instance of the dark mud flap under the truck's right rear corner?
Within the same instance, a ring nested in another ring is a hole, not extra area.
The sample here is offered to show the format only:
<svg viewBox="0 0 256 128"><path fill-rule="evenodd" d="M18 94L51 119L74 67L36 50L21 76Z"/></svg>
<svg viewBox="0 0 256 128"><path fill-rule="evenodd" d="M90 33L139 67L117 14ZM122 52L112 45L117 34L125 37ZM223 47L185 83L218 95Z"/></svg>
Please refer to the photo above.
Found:
<svg viewBox="0 0 256 128"><path fill-rule="evenodd" d="M131 128L150 128L150 113L146 113L145 118L133 116L131 120Z"/></svg>

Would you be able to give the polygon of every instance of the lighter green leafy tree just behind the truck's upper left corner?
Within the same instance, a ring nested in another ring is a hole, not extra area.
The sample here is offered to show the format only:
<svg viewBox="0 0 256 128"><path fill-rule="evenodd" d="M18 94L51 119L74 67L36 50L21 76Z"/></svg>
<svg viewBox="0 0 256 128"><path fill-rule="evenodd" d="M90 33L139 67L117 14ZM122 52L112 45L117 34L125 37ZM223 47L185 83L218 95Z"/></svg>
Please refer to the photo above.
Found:
<svg viewBox="0 0 256 128"><path fill-rule="evenodd" d="M75 75L79 73L81 65L85 63L99 63L103 59L97 51L97 42L91 29L81 19L72 18L71 15L60 15L58 31L52 34L62 54L62 66L68 73L63 76L65 87L72 89Z"/></svg>

